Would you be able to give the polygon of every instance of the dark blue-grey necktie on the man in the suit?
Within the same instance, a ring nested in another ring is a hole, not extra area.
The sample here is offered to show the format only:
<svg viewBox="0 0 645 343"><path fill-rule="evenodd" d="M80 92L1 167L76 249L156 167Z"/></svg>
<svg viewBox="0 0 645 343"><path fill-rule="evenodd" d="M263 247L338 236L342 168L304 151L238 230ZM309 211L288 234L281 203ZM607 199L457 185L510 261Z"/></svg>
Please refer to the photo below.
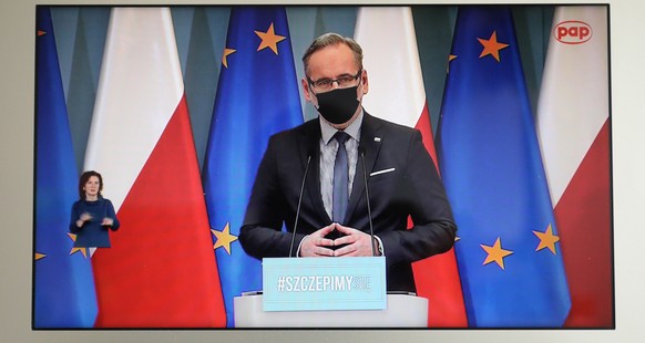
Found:
<svg viewBox="0 0 645 343"><path fill-rule="evenodd" d="M334 221L342 224L345 220L345 212L347 211L347 204L349 202L349 168L347 163L347 149L345 148L345 142L349 139L349 135L339 131L334 135L334 137L338 141L338 152L336 153L336 163L334 165L332 217Z"/></svg>

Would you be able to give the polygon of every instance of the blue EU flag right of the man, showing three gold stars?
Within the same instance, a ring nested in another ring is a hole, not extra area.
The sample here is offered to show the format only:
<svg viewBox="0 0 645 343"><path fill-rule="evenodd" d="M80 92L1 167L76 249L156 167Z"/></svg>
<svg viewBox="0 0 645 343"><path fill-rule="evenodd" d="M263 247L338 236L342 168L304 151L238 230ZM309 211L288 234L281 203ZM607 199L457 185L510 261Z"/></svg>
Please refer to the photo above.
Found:
<svg viewBox="0 0 645 343"><path fill-rule="evenodd" d="M563 325L571 300L510 9L459 9L438 132L469 325Z"/></svg>

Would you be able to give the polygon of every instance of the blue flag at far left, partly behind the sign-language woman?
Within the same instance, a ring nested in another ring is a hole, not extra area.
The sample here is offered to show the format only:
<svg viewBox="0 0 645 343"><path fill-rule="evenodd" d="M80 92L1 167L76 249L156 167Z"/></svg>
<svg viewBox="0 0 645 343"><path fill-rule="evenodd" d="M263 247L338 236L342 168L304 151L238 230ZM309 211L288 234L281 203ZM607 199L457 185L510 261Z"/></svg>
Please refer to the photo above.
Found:
<svg viewBox="0 0 645 343"><path fill-rule="evenodd" d="M33 328L92 328L98 305L90 257L68 235L79 172L54 32L50 9L37 11Z"/></svg>

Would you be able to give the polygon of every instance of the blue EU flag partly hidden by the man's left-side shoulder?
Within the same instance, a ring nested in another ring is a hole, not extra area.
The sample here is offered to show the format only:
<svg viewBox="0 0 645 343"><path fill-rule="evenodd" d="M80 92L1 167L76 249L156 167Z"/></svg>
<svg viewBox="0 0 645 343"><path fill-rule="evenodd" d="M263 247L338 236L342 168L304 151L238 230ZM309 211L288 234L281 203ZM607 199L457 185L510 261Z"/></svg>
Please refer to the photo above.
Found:
<svg viewBox="0 0 645 343"><path fill-rule="evenodd" d="M281 7L234 7L206 159L204 190L226 305L262 290L262 264L237 240L268 137L303 123L286 11Z"/></svg>

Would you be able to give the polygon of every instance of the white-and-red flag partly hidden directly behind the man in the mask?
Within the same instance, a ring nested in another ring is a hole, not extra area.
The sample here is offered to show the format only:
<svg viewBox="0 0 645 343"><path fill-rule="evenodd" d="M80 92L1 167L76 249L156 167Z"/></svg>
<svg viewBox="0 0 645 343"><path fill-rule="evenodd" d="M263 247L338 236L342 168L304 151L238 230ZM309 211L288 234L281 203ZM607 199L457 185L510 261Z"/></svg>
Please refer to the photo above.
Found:
<svg viewBox="0 0 645 343"><path fill-rule="evenodd" d="M370 81L366 110L380 118L421 131L437 165L432 127L417 48L412 11L407 7L360 8L356 41ZM454 249L412 264L417 293L428 298L428 325L465 328L465 308Z"/></svg>

